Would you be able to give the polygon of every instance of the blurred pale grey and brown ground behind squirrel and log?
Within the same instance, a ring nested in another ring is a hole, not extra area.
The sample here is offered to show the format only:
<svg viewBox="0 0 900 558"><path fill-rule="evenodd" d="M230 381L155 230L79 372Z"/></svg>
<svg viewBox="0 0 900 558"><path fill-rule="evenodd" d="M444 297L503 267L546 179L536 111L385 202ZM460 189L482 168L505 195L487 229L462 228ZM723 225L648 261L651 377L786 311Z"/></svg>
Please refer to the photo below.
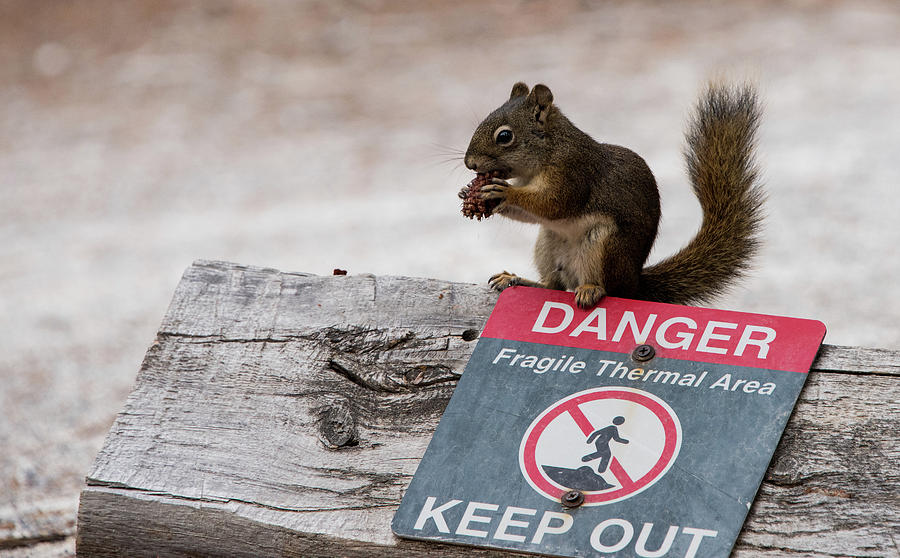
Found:
<svg viewBox="0 0 900 558"><path fill-rule="evenodd" d="M0 549L73 551L83 476L194 259L534 276L536 229L456 198L517 80L648 161L651 259L699 224L680 150L703 83L755 80L766 246L718 306L900 347L898 30L894 0L0 1Z"/></svg>

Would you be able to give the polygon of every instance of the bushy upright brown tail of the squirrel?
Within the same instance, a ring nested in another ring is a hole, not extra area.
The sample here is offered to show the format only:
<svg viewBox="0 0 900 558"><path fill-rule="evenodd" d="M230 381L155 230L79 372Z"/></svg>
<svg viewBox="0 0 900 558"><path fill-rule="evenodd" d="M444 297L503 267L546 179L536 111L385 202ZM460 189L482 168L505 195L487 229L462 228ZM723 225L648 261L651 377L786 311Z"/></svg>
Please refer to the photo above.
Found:
<svg viewBox="0 0 900 558"><path fill-rule="evenodd" d="M675 255L641 272L640 298L695 304L742 276L759 247L764 195L753 157L760 108L750 85L713 84L687 131L688 174L703 224Z"/></svg>

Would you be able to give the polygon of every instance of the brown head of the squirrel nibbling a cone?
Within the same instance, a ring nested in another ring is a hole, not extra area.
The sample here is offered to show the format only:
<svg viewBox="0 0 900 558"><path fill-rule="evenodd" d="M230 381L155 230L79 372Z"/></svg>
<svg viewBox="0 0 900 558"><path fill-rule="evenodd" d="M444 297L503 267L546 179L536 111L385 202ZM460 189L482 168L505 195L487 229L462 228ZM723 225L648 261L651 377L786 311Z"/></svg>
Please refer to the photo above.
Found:
<svg viewBox="0 0 900 558"><path fill-rule="evenodd" d="M472 135L466 166L477 173L498 171L503 178L530 179L547 156L548 120L556 111L553 93L543 84L529 92L513 85L509 100L488 115Z"/></svg>

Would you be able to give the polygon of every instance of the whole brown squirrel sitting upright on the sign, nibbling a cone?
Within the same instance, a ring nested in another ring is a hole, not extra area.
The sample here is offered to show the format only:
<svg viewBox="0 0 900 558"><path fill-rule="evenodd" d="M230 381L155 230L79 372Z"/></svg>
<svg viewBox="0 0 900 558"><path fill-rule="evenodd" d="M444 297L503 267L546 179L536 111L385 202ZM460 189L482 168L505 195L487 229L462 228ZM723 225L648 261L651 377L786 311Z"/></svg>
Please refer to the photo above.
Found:
<svg viewBox="0 0 900 558"><path fill-rule="evenodd" d="M644 267L660 219L647 163L598 143L553 104L543 84L513 85L509 100L476 128L464 162L485 177L477 193L504 217L540 224L540 281L503 271L489 284L573 290L579 307L604 295L672 304L707 302L748 269L759 247L764 194L754 162L761 109L751 85L710 84L697 103L684 150L703 209L696 236Z"/></svg>

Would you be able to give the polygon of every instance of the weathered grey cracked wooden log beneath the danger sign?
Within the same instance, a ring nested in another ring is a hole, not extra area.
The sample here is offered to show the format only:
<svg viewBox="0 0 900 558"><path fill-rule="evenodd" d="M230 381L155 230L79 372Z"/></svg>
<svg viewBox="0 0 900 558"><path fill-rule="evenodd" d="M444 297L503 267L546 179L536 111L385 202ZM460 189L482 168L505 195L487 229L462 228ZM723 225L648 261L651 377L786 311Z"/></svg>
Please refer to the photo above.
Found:
<svg viewBox="0 0 900 558"><path fill-rule="evenodd" d="M493 307L476 285L184 274L87 476L80 555L512 556L391 517ZM900 352L824 346L735 556L897 556Z"/></svg>

